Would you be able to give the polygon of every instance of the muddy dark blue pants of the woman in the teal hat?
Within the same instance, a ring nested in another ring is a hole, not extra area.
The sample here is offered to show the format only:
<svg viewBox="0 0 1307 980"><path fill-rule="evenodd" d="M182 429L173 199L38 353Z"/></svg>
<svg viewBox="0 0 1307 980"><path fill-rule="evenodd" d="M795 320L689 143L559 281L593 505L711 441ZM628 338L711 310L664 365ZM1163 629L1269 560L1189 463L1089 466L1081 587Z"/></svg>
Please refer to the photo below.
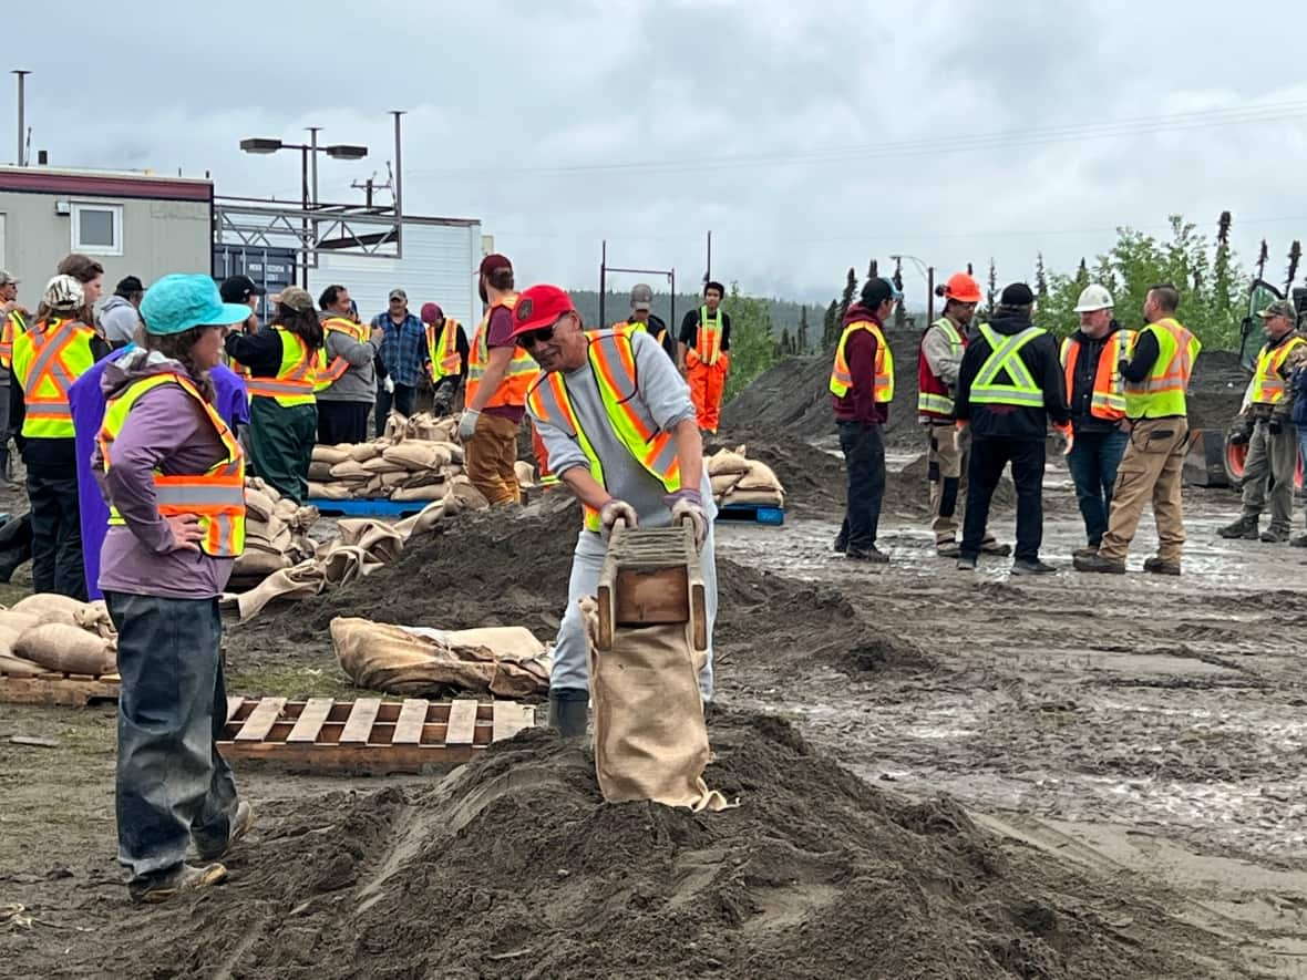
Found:
<svg viewBox="0 0 1307 980"><path fill-rule="evenodd" d="M145 878L195 838L225 844L237 785L214 743L227 719L217 598L106 592L118 627L118 861Z"/></svg>

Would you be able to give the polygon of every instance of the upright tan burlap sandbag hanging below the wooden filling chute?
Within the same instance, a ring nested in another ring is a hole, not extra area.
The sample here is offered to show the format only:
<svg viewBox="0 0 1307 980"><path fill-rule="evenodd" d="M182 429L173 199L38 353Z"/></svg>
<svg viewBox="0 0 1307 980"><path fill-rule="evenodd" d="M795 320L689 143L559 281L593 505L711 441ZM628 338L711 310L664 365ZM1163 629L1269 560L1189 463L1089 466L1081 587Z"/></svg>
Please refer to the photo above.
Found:
<svg viewBox="0 0 1307 980"><path fill-rule="evenodd" d="M620 629L613 648L599 651L599 604L582 600L589 648L589 695L595 704L595 771L610 804L652 800L694 811L724 810L708 789L708 728L703 721L699 670L685 625Z"/></svg>

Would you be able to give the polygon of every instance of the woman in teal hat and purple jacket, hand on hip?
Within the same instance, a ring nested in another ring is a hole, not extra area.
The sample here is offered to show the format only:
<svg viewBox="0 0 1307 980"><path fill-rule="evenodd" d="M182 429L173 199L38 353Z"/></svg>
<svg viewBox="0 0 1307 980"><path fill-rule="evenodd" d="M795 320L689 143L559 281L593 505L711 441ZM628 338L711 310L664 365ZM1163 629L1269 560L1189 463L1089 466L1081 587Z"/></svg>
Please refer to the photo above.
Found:
<svg viewBox="0 0 1307 980"><path fill-rule="evenodd" d="M165 276L140 349L108 365L94 456L111 508L99 587L118 627L118 860L135 902L226 878L250 826L216 741L226 721L218 595L244 546L244 453L209 371L250 315L208 276ZM186 862L195 843L203 866Z"/></svg>

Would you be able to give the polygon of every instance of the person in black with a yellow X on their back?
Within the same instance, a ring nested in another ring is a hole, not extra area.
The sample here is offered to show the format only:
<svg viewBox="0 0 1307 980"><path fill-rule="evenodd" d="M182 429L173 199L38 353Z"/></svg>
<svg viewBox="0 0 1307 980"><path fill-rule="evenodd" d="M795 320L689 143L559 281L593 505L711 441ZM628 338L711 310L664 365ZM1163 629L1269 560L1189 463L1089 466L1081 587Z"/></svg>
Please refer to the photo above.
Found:
<svg viewBox="0 0 1307 980"><path fill-rule="evenodd" d="M1057 345L1031 324L1035 295L1025 282L1002 290L999 307L967 344L958 370L959 422L971 427L967 510L958 568L972 570L989 520L989 500L1004 468L1017 485L1017 551L1013 575L1056 571L1039 561L1043 540L1044 439L1048 422L1067 426L1067 383Z"/></svg>

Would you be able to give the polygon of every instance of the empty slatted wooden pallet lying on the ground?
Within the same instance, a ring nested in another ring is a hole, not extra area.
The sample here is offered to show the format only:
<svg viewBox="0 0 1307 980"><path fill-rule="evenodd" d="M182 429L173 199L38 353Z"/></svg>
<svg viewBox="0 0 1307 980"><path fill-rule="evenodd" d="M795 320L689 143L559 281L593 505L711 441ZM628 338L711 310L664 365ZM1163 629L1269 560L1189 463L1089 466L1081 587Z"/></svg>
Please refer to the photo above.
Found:
<svg viewBox="0 0 1307 980"><path fill-rule="evenodd" d="M468 762L535 724L536 710L512 700L227 698L218 750L314 771L421 772Z"/></svg>

